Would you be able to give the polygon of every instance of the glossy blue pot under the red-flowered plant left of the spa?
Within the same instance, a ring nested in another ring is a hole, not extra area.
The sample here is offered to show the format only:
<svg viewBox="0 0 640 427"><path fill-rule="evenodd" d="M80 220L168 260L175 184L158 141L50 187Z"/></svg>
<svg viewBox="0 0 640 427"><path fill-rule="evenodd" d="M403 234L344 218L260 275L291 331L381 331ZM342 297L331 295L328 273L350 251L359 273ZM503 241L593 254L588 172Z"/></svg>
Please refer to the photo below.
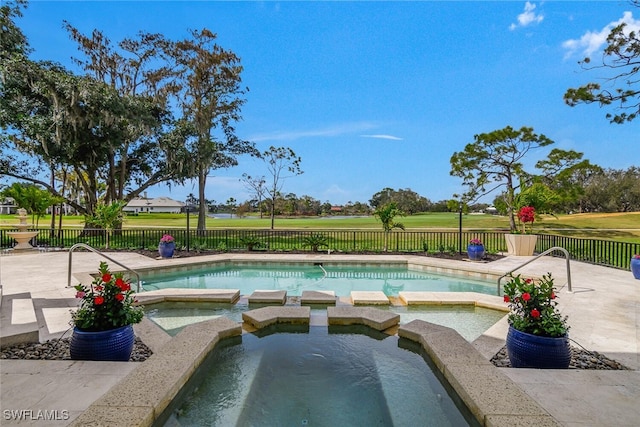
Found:
<svg viewBox="0 0 640 427"><path fill-rule="evenodd" d="M74 360L127 362L133 351L133 326L127 325L100 332L73 329L70 350Z"/></svg>

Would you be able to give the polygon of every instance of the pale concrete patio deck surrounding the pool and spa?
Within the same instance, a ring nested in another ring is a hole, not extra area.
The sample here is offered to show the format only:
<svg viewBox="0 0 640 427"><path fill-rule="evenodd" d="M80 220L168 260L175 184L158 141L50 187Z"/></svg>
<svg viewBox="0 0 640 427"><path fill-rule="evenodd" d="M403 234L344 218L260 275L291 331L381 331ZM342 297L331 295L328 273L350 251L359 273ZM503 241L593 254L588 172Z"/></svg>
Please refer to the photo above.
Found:
<svg viewBox="0 0 640 427"><path fill-rule="evenodd" d="M109 255L133 269L204 261L202 257L155 260L130 253ZM230 260L255 257L262 261L275 261L290 260L292 256L227 254L224 257ZM389 259L415 263L434 271L463 270L473 277L502 274L529 259L506 257L480 264L424 256L318 254L295 257L306 261L349 259L370 264ZM100 260L96 254L75 253L73 272L93 272ZM5 253L0 257L3 336L12 328L29 329L34 325L40 340L59 337L68 330L69 310L76 301L75 290L66 286L67 263L66 252ZM556 286L560 288L560 307L569 316L571 339L588 350L621 362L631 370L502 368L500 371L561 425L637 425L640 417L637 405L640 398L640 297L637 287L640 281L634 280L629 271L571 262L573 292L569 293L564 259L544 257L526 266L522 272L535 276L552 272ZM503 319L473 345L488 359L504 345L506 330L506 319ZM162 338L159 341L153 345L161 345ZM133 362L1 360L2 425L68 425L137 365ZM16 420L18 413L27 419ZM37 419L38 415L49 419Z"/></svg>

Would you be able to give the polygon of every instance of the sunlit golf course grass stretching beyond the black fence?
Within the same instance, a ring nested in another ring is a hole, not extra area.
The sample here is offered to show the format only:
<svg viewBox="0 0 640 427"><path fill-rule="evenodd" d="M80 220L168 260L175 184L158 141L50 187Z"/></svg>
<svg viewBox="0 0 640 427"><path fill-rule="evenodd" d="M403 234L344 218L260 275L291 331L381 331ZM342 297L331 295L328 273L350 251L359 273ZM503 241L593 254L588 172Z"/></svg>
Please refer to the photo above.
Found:
<svg viewBox="0 0 640 427"><path fill-rule="evenodd" d="M197 214L190 214L190 228L197 225ZM396 218L407 230L457 229L457 213L424 213ZM31 218L29 219L31 222ZM0 226L10 227L17 223L14 215L0 215ZM43 228L51 223L50 216L40 218L38 225ZM253 228L268 229L270 219L249 216L245 218L207 218L207 229L212 228ZM82 227L83 218L79 216L63 217L63 227ZM57 219L56 219L57 226ZM140 214L125 218L125 228L185 228L186 214ZM507 230L509 220L504 216L469 214L462 216L465 230ZM276 218L275 228L290 230L340 230L340 229L381 229L380 222L371 217L311 217ZM557 217L544 215L534 223L534 231L561 234L572 237L609 239L640 243L640 212L608 214L575 214Z"/></svg>

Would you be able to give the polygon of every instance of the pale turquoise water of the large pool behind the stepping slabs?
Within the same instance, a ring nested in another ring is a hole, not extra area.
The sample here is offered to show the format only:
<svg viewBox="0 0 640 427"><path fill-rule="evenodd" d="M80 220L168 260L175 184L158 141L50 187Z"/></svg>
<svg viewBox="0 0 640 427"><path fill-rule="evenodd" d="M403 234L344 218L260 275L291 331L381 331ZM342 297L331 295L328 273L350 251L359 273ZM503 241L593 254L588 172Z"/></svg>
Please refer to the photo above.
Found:
<svg viewBox="0 0 640 427"><path fill-rule="evenodd" d="M339 297L349 296L352 291L382 291L390 297L398 296L401 291L497 293L493 282L406 267L312 264L194 267L161 275L148 274L143 277L143 288L239 289L241 295L250 295L258 289L286 290L288 296L300 296L305 290L329 290Z"/></svg>

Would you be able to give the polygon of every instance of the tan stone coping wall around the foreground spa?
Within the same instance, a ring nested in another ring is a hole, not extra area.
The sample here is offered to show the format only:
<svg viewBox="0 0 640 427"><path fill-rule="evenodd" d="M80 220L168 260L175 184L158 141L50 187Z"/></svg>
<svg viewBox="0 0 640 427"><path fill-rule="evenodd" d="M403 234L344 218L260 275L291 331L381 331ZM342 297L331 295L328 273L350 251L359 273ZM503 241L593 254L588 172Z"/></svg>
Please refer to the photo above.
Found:
<svg viewBox="0 0 640 427"><path fill-rule="evenodd" d="M275 323L310 324L309 307L263 307L243 313L253 328ZM399 316L372 307L328 307L329 325L364 324L395 330ZM76 418L71 425L151 426L215 345L242 334L225 317L185 327L171 338L149 319L136 334L154 354ZM484 426L560 424L453 329L421 320L399 326L397 334L419 343L437 369Z"/></svg>

